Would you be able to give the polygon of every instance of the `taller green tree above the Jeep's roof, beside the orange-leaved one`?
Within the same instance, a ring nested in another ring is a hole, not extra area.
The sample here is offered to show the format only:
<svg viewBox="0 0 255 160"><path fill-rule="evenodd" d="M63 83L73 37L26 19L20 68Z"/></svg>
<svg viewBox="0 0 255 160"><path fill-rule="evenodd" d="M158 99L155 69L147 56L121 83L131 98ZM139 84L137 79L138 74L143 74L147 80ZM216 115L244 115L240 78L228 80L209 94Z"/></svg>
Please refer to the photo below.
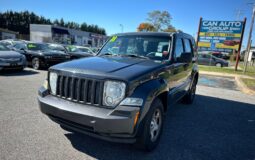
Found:
<svg viewBox="0 0 255 160"><path fill-rule="evenodd" d="M164 31L171 26L172 16L168 11L155 10L148 13L147 21L152 24L156 31Z"/></svg>

